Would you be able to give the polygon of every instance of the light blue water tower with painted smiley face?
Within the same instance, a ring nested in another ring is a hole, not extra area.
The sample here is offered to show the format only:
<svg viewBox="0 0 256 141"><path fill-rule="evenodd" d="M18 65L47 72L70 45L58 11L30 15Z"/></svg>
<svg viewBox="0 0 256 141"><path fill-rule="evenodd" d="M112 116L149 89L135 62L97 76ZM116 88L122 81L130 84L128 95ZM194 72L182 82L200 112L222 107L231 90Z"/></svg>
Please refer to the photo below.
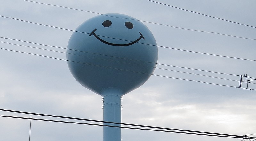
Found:
<svg viewBox="0 0 256 141"><path fill-rule="evenodd" d="M71 74L103 97L103 120L115 123L121 123L121 96L148 80L157 58L156 40L150 30L135 18L115 13L86 20L72 34L67 47ZM121 141L121 128L104 126L103 141Z"/></svg>

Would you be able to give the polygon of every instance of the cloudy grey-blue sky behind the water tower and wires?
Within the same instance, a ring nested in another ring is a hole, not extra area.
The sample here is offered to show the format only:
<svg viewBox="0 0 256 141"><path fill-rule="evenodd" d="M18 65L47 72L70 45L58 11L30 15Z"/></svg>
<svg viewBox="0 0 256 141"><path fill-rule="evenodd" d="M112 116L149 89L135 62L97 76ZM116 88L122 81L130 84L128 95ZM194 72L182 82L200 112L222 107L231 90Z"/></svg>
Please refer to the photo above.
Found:
<svg viewBox="0 0 256 141"><path fill-rule="evenodd" d="M256 80L246 83L256 78L256 1L156 0L174 7L148 0L33 1L45 4L0 0L0 109L103 120L102 97L73 78L65 48L72 30L87 19L121 13L144 21L158 45L154 75L122 96L122 123L256 134ZM6 111L0 115L82 122ZM0 117L0 140L29 140L29 131L28 119ZM31 121L31 141L102 138L101 126ZM241 140L134 129L122 129L122 139Z"/></svg>

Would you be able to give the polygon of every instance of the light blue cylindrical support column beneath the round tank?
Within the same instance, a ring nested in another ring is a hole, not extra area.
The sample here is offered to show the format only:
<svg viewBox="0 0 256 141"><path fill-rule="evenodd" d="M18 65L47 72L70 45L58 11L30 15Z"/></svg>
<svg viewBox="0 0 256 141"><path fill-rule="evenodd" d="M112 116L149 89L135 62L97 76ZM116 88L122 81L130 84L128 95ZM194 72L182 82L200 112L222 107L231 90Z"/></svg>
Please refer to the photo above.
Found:
<svg viewBox="0 0 256 141"><path fill-rule="evenodd" d="M103 97L103 120L121 123L121 97L119 95ZM104 123L104 125L121 126L112 123ZM103 141L121 141L121 128L104 126Z"/></svg>

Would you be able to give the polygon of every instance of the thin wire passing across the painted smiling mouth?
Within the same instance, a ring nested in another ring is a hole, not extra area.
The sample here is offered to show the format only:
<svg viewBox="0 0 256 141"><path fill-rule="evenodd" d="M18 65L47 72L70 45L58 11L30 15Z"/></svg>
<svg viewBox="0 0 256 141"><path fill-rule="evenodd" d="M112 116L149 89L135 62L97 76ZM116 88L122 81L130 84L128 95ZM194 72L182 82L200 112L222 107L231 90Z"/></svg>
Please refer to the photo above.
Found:
<svg viewBox="0 0 256 141"><path fill-rule="evenodd" d="M26 21L26 20L21 20L21 19L17 19L17 18L11 18L11 17L1 16L1 15L0 15L0 17L3 17L3 18L10 18L10 19L14 19L14 20L19 20L19 21L22 21L22 22L28 22L28 23L31 23L31 24L44 25L44 26L53 27L53 28L62 29L62 30L68 30L68 31L72 31L72 32L79 32L79 33L84 33L84 34L90 34L90 33L86 33L86 32L80 32L80 31L76 31L76 30L71 30L71 29L66 29L66 28L60 28L60 27L51 26L51 25L39 24L39 23L30 22L30 21ZM106 38L111 38L111 39L117 39L117 38L112 38L112 37L107 37L107 36L101 36L101 35L98 35L98 36L100 36L100 37L106 37ZM117 40L124 40L124 39L117 39ZM124 40L124 41L129 41L129 40ZM140 42L137 42L137 43L140 43ZM140 44L145 44L145 43L140 43ZM150 45L150 44L146 44L146 45ZM150 45L150 46L156 46L156 45ZM256 60L252 60L252 59L244 59L244 58L238 58L238 57L230 57L230 56L217 55L217 54L211 54L211 53L201 53L201 52L189 51L189 50L184 50L184 49L177 49L177 48L172 48L172 47L167 47L167 46L159 46L159 45L157 45L157 46L158 46L158 47L163 47L163 48L168 48L168 49L179 50L179 51L186 51L186 52L190 52L190 53L199 53L199 54L212 55L212 56L225 57L225 58L232 58L232 59L239 59L239 60L256 61Z"/></svg>

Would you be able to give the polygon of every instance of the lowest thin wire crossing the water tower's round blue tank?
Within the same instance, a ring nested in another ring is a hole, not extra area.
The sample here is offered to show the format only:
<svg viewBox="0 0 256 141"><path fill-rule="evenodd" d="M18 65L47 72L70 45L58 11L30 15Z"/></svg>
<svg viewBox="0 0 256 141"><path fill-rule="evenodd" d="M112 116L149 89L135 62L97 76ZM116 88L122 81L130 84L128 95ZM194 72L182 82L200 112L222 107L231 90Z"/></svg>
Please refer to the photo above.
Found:
<svg viewBox="0 0 256 141"><path fill-rule="evenodd" d="M92 65L92 66L98 66L98 67L106 67L106 66L101 66L101 65L89 64L89 63L82 63L82 62L76 62L76 61L71 61L71 60L65 60L65 59L60 59L60 58L55 58L55 57L50 57L50 56L45 56L45 55L39 55L39 54L35 54L35 53L27 53L27 52L15 51L15 50L10 50L10 49L5 49L5 48L0 48L0 49L7 50L7 51L18 52L18 53L26 53L26 54L31 54L31 55L36 55L36 56L41 56L41 57L46 57L46 58L51 58L51 59L64 60L64 61L69 61L69 62L74 62L74 63L81 63L81 64ZM129 71L129 72L140 73L140 74L148 74L148 73L136 72L136 71L131 71L131 70L124 70L124 69L119 69L119 68L114 68L114 67L106 67L106 68L117 69L117 70L122 70L122 71ZM230 86L230 85L223 85L223 84L210 83L210 82L204 82L204 81L196 81L196 80L190 80L190 79L176 78L176 77L170 77L170 76L164 76L164 75L157 75L157 74L148 74L148 75L160 76L160 77L164 77L164 78L172 78L172 79L178 79L178 80L186 80L186 81L200 82L200 83L212 84L212 85L218 85L218 86L226 86L226 87L233 87L233 88L242 88L242 87L236 87L236 86ZM243 89L248 89L248 88L243 88ZM249 89L249 90L256 90L256 89Z"/></svg>

